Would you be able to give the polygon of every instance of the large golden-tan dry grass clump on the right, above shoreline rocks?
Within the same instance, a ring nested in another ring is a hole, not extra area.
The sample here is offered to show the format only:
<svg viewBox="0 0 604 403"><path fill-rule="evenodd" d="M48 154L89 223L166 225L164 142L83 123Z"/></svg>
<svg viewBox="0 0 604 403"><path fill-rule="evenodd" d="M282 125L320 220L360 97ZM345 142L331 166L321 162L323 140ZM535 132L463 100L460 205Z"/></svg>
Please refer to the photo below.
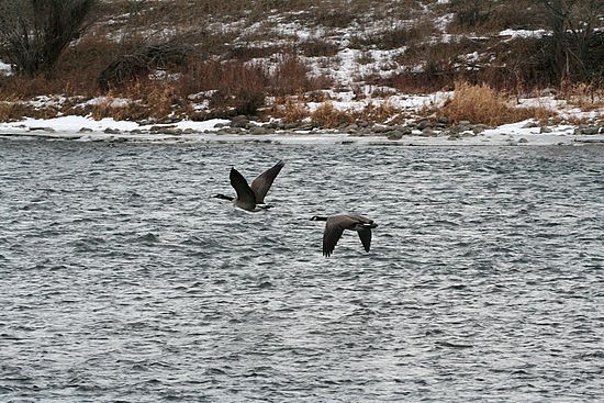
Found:
<svg viewBox="0 0 604 403"><path fill-rule="evenodd" d="M543 120L551 115L546 108L513 108L505 93L496 92L485 83L471 85L458 81L455 94L439 111L452 122L469 121L488 125L501 125L526 119Z"/></svg>

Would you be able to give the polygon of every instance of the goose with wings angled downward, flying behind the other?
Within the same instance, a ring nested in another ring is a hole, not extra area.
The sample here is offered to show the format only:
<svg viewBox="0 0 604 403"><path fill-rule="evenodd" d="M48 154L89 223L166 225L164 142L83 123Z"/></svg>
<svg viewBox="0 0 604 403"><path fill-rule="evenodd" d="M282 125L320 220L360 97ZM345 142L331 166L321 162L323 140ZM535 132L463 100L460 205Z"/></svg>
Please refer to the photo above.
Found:
<svg viewBox="0 0 604 403"><path fill-rule="evenodd" d="M369 251L371 246L371 228L378 226L370 220L357 214L338 214L332 216L315 215L311 221L325 221L325 231L323 232L323 256L329 257L342 237L344 230L356 231L359 234L360 242L365 251Z"/></svg>

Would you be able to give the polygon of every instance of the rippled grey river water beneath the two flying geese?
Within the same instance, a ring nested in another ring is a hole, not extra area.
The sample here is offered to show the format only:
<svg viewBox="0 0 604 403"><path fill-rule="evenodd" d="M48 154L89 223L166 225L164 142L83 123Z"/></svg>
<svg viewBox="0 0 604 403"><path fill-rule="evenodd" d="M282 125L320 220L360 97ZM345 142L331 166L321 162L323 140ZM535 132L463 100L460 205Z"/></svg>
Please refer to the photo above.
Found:
<svg viewBox="0 0 604 403"><path fill-rule="evenodd" d="M279 159L272 210L211 198ZM602 401L603 173L599 146L0 141L0 401ZM369 254L322 256L338 212Z"/></svg>

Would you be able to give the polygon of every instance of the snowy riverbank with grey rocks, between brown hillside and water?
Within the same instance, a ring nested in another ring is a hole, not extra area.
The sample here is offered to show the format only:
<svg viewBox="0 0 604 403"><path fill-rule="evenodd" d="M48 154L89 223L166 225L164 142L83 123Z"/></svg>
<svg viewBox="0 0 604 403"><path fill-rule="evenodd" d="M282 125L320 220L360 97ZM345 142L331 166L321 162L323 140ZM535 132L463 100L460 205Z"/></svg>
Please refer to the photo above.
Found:
<svg viewBox="0 0 604 403"><path fill-rule="evenodd" d="M244 116L202 122L152 124L93 120L85 116L24 119L0 123L5 138L69 139L80 142L261 142L276 144L390 144L390 145L579 145L604 144L604 124L541 125L532 120L489 127L459 122L420 121L407 124L350 124L321 128L279 121L255 122Z"/></svg>

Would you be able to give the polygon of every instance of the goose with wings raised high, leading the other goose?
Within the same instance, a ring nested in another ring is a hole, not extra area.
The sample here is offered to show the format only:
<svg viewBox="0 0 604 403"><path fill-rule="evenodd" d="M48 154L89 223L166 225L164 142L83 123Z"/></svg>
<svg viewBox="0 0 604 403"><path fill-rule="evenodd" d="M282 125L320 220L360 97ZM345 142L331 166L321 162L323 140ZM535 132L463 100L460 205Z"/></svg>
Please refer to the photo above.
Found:
<svg viewBox="0 0 604 403"><path fill-rule="evenodd" d="M265 195L284 165L283 161L277 163L272 168L267 169L254 179L251 184L247 184L244 176L238 170L231 168L228 178L231 179L231 186L237 192L237 197L216 194L214 198L230 200L235 206L251 212L270 209L272 205L265 204Z"/></svg>

